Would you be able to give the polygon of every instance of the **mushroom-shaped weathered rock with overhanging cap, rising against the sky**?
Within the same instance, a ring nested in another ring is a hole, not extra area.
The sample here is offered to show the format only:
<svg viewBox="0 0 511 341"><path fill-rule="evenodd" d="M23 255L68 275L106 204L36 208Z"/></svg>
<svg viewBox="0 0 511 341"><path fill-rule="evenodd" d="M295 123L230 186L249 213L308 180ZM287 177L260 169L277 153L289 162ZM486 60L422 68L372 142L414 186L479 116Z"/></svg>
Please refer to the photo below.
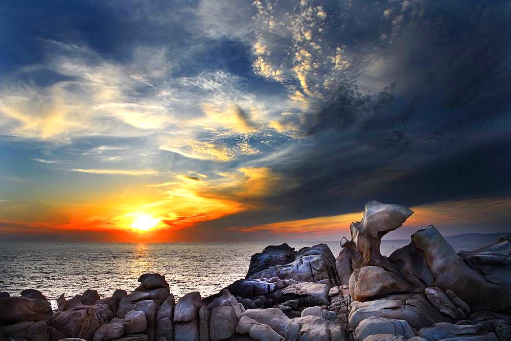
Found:
<svg viewBox="0 0 511 341"><path fill-rule="evenodd" d="M366 265L378 265L396 272L396 267L380 253L381 238L403 225L413 211L401 205L370 201L365 204L360 222L350 226L351 237L341 240L341 246L350 251L354 269Z"/></svg>

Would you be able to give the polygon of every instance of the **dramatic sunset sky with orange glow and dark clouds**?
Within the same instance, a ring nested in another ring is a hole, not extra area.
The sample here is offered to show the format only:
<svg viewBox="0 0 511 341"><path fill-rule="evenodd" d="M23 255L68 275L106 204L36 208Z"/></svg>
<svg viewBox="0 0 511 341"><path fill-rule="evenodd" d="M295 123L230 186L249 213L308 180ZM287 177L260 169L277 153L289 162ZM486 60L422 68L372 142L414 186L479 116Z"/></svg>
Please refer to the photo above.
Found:
<svg viewBox="0 0 511 341"><path fill-rule="evenodd" d="M0 239L511 232L508 1L0 4Z"/></svg>

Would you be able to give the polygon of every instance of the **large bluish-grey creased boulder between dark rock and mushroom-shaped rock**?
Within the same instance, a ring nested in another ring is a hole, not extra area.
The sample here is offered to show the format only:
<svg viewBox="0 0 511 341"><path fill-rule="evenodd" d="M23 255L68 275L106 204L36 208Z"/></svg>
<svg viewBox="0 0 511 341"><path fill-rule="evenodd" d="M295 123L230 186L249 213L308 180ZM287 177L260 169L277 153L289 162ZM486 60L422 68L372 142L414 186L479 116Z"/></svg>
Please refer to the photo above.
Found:
<svg viewBox="0 0 511 341"><path fill-rule="evenodd" d="M302 248L294 260L283 265L270 266L268 269L253 273L252 279L292 279L297 282L317 282L329 287L339 285L335 269L335 257L326 244Z"/></svg>

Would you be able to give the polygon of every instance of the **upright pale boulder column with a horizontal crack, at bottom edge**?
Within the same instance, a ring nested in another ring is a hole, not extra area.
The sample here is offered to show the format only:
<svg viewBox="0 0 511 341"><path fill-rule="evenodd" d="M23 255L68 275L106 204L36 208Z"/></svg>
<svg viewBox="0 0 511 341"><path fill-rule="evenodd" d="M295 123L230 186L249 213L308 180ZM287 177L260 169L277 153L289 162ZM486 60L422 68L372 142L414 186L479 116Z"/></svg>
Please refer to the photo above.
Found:
<svg viewBox="0 0 511 341"><path fill-rule="evenodd" d="M180 340L199 340L199 310L202 300L198 291L184 295L174 308L174 338Z"/></svg>

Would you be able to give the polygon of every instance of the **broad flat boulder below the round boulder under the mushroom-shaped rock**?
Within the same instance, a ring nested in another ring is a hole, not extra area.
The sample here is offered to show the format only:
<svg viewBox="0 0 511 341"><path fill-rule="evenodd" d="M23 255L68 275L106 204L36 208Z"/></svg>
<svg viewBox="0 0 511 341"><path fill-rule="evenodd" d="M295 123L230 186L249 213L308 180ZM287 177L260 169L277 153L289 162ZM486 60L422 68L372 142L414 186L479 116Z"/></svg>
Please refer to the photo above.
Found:
<svg viewBox="0 0 511 341"><path fill-rule="evenodd" d="M449 316L436 310L424 294L397 294L365 302L353 301L349 316L350 329L356 329L362 320L371 316L405 320L415 329L439 322L453 322Z"/></svg>

